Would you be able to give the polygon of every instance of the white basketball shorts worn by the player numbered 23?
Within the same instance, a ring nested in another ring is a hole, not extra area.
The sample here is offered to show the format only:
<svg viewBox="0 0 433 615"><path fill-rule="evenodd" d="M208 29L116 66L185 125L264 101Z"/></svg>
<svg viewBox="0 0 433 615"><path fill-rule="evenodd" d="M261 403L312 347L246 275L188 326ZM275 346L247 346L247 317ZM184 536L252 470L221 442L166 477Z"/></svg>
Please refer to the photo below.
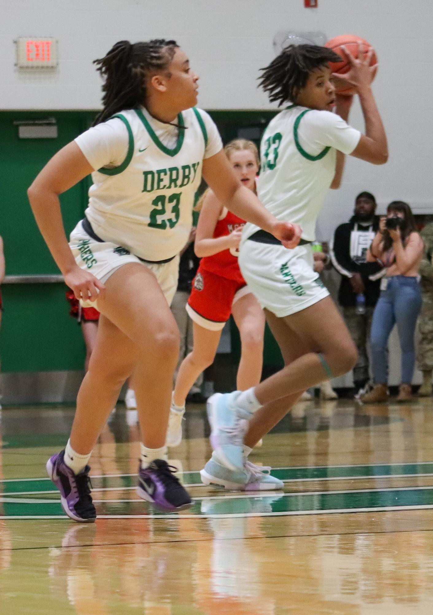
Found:
<svg viewBox="0 0 433 615"><path fill-rule="evenodd" d="M170 305L177 289L177 277L179 275L179 256L175 256L168 263L143 263L120 245L111 242L98 242L90 237L82 227L81 221L71 232L69 247L77 265L85 271L90 271L98 280L105 283L106 280L122 265L127 263L139 263L150 269L155 274L158 284ZM98 300L81 300L83 308L98 309Z"/></svg>

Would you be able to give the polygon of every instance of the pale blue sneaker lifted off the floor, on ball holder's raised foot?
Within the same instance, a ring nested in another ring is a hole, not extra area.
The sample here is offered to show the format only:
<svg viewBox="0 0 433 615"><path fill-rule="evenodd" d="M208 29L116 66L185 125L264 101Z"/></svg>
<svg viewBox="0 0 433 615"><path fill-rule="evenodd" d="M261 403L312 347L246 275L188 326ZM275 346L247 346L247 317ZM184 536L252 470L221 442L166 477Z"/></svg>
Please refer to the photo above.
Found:
<svg viewBox="0 0 433 615"><path fill-rule="evenodd" d="M216 393L209 397L207 411L211 424L211 446L217 459L229 470L243 471L243 443L248 429L248 420L236 407L239 392Z"/></svg>

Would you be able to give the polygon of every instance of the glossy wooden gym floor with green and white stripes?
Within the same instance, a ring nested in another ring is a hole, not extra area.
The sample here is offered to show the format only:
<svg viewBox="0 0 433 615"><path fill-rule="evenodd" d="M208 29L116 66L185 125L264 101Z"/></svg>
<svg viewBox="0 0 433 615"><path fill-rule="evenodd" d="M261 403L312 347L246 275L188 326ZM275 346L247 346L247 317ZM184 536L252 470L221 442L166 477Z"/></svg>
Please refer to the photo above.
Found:
<svg viewBox="0 0 433 615"><path fill-rule="evenodd" d="M185 514L135 494L139 432L119 405L91 459L98 520L66 518L45 477L73 408L0 412L2 615L433 613L433 404L307 402L252 461L284 493L200 484L203 406L187 408L173 464Z"/></svg>

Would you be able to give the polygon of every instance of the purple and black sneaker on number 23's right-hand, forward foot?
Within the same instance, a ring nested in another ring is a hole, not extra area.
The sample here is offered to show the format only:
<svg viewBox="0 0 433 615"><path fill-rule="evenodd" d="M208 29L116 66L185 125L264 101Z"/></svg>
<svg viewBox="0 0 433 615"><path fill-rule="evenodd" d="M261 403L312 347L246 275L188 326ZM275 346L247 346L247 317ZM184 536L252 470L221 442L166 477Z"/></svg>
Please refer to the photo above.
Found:
<svg viewBox="0 0 433 615"><path fill-rule="evenodd" d="M175 512L191 506L189 493L174 476L176 468L169 466L163 459L154 459L152 463L138 470L137 494L141 499L152 502L158 508Z"/></svg>

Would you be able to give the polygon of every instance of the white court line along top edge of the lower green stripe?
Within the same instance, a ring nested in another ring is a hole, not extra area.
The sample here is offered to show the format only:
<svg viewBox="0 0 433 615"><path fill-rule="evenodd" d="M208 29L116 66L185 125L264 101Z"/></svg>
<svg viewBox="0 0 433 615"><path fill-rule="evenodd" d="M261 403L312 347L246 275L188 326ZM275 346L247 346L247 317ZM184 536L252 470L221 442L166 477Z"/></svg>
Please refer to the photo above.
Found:
<svg viewBox="0 0 433 615"><path fill-rule="evenodd" d="M224 493L217 496L201 496L200 498L191 498L192 501L208 501L215 499L263 499L263 498L271 498L275 495L281 496L280 499L283 498L297 498L299 496L322 496L322 495L345 495L349 493L378 493L378 492L386 492L386 491L432 491L433 486L416 486L416 487L384 487L376 488L376 489L348 489L348 490L337 490L337 491L298 491L297 493L282 493L281 491L249 491L248 493ZM50 491L50 493L55 493ZM141 498L135 499L93 499L95 504L115 504L119 502L142 502ZM14 498L13 496L9 498L9 496L2 496L0 498L0 503L4 504L60 504L60 499L31 499L31 498Z"/></svg>

